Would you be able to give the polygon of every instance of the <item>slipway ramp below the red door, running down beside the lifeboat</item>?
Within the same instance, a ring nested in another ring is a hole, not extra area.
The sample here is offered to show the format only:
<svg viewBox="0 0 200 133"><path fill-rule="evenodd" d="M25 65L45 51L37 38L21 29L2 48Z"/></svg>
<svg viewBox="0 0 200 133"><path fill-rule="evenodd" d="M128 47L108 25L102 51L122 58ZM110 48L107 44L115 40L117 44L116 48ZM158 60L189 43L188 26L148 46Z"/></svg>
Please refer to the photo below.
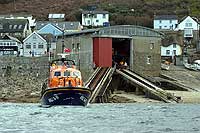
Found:
<svg viewBox="0 0 200 133"><path fill-rule="evenodd" d="M107 102L109 94L107 89L112 81L112 75L115 68L98 67L86 82L86 87L92 90L89 103Z"/></svg>

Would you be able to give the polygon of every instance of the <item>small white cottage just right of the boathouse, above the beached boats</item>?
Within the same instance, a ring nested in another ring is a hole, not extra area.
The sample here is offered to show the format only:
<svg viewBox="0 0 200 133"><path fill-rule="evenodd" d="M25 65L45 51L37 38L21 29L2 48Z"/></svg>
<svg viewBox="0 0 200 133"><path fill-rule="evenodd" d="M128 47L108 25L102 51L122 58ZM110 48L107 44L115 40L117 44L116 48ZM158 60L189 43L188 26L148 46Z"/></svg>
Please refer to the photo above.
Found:
<svg viewBox="0 0 200 133"><path fill-rule="evenodd" d="M168 46L161 46L161 56L174 57L182 55L182 48L177 43L169 44Z"/></svg>

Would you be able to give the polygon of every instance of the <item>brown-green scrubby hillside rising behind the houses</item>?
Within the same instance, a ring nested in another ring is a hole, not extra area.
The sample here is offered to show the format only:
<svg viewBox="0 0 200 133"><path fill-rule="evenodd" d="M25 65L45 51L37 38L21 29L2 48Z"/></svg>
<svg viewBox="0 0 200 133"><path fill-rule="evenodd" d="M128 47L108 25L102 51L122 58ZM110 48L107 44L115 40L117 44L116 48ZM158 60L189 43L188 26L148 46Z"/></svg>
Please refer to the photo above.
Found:
<svg viewBox="0 0 200 133"><path fill-rule="evenodd" d="M1 0L0 14L23 12L45 20L48 13L65 13L66 20L80 21L80 13L88 5L109 11L112 25L151 27L156 14L176 14L179 19L186 15L200 18L199 0Z"/></svg>

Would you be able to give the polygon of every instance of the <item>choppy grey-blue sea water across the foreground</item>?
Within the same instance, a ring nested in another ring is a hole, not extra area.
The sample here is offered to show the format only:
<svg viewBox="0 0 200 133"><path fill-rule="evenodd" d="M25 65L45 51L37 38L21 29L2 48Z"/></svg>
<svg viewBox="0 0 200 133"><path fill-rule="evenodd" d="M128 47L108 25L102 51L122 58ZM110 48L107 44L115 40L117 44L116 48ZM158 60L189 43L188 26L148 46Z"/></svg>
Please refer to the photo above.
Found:
<svg viewBox="0 0 200 133"><path fill-rule="evenodd" d="M0 103L0 133L200 133L198 104Z"/></svg>

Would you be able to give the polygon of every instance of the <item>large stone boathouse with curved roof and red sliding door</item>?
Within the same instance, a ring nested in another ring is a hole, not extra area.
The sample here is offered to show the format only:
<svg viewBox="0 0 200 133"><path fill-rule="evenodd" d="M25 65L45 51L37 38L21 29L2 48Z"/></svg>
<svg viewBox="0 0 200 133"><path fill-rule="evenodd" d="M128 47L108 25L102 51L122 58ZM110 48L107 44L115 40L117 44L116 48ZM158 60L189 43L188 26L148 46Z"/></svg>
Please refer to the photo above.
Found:
<svg viewBox="0 0 200 133"><path fill-rule="evenodd" d="M67 33L58 40L57 53L71 49L70 58L81 69L111 67L126 61L129 68L143 76L159 76L162 34L136 25L118 25Z"/></svg>

